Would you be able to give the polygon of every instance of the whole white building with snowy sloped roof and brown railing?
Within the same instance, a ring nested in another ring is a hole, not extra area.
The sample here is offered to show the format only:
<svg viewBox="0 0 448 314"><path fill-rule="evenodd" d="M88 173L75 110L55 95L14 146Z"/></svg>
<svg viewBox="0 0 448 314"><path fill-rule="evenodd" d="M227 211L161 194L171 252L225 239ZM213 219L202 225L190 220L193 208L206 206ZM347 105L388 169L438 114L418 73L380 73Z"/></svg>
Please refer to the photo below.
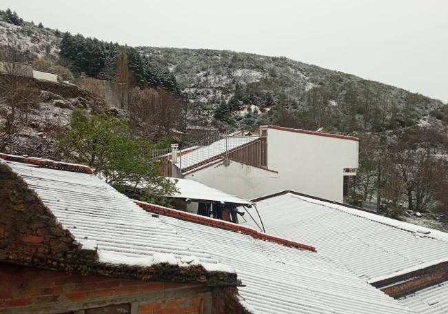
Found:
<svg viewBox="0 0 448 314"><path fill-rule="evenodd" d="M356 137L260 129L261 136L221 139L186 153L176 166L187 179L245 199L294 190L343 202L344 182L358 168Z"/></svg>

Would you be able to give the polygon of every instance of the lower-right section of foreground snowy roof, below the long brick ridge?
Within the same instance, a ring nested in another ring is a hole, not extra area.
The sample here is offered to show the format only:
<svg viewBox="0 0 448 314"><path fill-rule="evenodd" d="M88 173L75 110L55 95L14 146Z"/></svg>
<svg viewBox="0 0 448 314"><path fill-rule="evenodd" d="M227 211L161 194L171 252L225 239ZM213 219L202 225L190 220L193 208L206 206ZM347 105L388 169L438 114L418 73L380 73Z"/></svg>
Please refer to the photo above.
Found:
<svg viewBox="0 0 448 314"><path fill-rule="evenodd" d="M212 258L232 266L245 285L238 291L254 313L413 313L319 253L160 217Z"/></svg>

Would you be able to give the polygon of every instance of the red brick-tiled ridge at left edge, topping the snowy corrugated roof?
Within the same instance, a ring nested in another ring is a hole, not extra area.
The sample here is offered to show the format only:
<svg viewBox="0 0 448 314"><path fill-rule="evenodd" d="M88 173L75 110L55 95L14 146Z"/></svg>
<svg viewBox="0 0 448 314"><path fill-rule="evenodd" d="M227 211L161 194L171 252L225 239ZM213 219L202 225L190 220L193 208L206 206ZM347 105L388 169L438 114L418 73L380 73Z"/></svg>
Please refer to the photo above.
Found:
<svg viewBox="0 0 448 314"><path fill-rule="evenodd" d="M62 162L62 161L54 161L52 159L43 159L38 157L28 157L19 155L8 155L5 153L0 153L0 158L9 161L21 162L23 164L32 164L42 168L72 171L75 173L87 173L89 175L93 174L93 170L89 166L70 164L68 162Z"/></svg>

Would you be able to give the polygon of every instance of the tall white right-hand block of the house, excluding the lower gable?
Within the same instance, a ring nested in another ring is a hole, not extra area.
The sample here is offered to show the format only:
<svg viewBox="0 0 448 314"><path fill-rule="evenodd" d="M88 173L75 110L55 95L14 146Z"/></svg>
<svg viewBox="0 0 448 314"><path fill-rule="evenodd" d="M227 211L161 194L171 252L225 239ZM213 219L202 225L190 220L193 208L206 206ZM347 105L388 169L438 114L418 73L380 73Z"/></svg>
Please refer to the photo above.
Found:
<svg viewBox="0 0 448 314"><path fill-rule="evenodd" d="M343 202L344 168L358 168L358 141L267 129L267 165L278 190Z"/></svg>

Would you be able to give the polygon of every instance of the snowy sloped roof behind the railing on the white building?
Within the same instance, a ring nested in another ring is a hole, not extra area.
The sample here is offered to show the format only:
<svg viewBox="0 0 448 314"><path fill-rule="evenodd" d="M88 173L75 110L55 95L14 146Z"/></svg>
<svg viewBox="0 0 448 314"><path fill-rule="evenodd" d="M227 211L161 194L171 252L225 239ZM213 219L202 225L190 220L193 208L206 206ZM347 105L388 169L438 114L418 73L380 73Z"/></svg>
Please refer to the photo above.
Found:
<svg viewBox="0 0 448 314"><path fill-rule="evenodd" d="M249 144L251 141L256 141L259 137L257 136L246 136L246 137L227 137L226 139L219 139L214 141L212 144L207 146L201 146L193 150L191 153L186 153L181 155L177 159L176 165L179 168L192 168L194 166L200 166L202 164L207 164L210 161L214 161L225 154L227 150L234 150L239 146Z"/></svg>

